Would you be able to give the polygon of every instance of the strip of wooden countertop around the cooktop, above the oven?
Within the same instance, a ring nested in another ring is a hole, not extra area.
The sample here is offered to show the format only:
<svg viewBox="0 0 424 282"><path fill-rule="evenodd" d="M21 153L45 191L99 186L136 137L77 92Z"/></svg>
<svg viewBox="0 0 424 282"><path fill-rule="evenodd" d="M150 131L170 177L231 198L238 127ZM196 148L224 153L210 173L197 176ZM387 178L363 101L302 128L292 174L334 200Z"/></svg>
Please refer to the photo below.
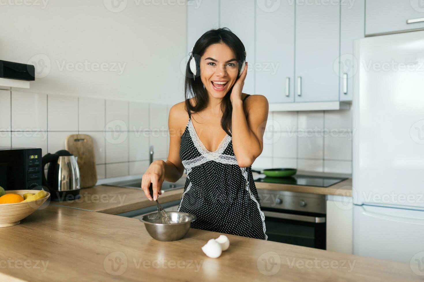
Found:
<svg viewBox="0 0 424 282"><path fill-rule="evenodd" d="M255 181L257 189L267 190L278 190L278 191L292 191L302 193L312 193L321 195L340 195L351 197L352 196L352 178L340 181L329 187L317 187L317 186L302 186L302 185L290 185L290 184L279 184L279 183L267 183Z"/></svg>

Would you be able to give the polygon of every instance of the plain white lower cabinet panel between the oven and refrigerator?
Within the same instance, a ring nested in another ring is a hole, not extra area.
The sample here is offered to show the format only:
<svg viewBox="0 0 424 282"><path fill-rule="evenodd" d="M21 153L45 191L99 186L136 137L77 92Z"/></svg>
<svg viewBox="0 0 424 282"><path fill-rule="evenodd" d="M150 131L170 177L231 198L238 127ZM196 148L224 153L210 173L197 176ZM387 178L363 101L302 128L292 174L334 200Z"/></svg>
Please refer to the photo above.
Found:
<svg viewBox="0 0 424 282"><path fill-rule="evenodd" d="M345 254L353 253L353 198L327 196L326 249Z"/></svg>

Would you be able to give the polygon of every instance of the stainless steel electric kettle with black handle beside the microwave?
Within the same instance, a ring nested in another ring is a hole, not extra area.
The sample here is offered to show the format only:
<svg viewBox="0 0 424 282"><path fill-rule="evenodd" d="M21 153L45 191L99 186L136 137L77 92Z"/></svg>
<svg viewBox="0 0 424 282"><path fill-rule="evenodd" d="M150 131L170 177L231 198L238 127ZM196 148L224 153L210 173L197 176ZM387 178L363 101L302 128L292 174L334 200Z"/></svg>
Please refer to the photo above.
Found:
<svg viewBox="0 0 424 282"><path fill-rule="evenodd" d="M79 197L80 173L75 156L66 150L47 153L42 158L42 167L50 164L47 179L42 173L43 186L50 190L52 200L66 201Z"/></svg>

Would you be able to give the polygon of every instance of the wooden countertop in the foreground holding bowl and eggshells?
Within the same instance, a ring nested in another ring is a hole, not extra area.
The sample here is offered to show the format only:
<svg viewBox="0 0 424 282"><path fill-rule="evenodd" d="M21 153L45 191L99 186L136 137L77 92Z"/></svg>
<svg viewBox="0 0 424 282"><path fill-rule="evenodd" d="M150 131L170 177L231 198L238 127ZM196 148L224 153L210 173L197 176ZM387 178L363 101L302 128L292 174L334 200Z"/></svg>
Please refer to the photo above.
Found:
<svg viewBox="0 0 424 282"><path fill-rule="evenodd" d="M138 219L50 205L19 225L0 228L0 277L42 282L422 279L407 264L235 235L227 235L230 247L219 258L206 257L201 246L218 235L192 228L179 241L161 242Z"/></svg>

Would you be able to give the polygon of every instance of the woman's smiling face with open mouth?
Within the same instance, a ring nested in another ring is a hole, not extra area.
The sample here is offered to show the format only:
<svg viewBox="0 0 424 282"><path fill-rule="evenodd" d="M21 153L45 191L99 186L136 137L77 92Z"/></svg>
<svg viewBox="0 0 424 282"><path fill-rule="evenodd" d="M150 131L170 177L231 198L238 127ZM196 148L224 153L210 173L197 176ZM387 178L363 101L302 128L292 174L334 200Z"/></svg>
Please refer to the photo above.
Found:
<svg viewBox="0 0 424 282"><path fill-rule="evenodd" d="M238 62L226 44L212 44L200 59L200 76L205 89L215 98L223 98L237 79Z"/></svg>

